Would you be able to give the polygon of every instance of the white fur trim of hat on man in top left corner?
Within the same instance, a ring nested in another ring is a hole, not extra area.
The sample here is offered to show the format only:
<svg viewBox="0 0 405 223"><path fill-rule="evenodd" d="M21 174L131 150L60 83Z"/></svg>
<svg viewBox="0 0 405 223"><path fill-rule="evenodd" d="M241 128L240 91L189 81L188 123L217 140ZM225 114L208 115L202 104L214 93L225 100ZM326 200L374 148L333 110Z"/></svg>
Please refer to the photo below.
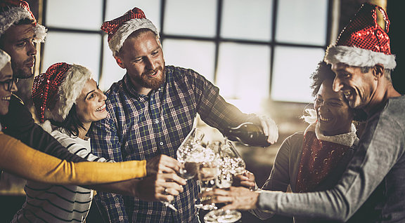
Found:
<svg viewBox="0 0 405 223"><path fill-rule="evenodd" d="M0 35L4 34L15 22L23 19L35 20L32 14L21 7L11 7L8 11L0 14ZM37 24L34 27L35 42L43 43L46 36L46 28L43 25Z"/></svg>

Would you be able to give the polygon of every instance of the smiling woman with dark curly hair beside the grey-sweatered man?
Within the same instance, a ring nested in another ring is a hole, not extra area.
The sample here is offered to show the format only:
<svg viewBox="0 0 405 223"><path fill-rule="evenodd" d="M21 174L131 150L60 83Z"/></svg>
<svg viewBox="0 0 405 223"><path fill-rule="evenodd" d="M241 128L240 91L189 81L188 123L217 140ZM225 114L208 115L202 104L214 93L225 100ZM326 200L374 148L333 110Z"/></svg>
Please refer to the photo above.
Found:
<svg viewBox="0 0 405 223"><path fill-rule="evenodd" d="M330 65L320 62L311 76L312 95L316 97L314 109L307 110L309 116L303 117L309 126L281 144L262 189L287 191L290 185L296 193L320 191L340 179L359 139L352 124L357 111L349 107L342 93L333 91L334 77ZM261 219L273 216L259 209L252 212ZM295 222L316 221L295 218Z"/></svg>

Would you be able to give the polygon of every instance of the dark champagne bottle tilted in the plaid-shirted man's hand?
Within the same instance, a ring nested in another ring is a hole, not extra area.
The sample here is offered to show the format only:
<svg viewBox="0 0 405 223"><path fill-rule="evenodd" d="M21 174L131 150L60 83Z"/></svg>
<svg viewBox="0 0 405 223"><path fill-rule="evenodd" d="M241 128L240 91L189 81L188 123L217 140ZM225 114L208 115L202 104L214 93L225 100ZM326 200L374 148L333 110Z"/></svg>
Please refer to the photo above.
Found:
<svg viewBox="0 0 405 223"><path fill-rule="evenodd" d="M264 135L262 127L251 122L241 123L237 127L224 129L224 135L231 141L239 141L246 146L268 147L267 136Z"/></svg>

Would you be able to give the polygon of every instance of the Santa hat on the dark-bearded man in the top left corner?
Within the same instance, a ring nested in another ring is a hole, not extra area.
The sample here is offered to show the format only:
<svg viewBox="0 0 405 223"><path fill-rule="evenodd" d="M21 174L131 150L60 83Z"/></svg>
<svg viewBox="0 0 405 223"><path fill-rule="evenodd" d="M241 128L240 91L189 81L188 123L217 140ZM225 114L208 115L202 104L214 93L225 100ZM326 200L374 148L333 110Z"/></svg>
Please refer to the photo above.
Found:
<svg viewBox="0 0 405 223"><path fill-rule="evenodd" d="M43 25L39 25L34 17L34 14L30 11L26 1L21 0L2 0L0 2L0 8L3 11L0 12L0 35L4 34L8 28L23 19L30 19L34 21L34 41L43 43L46 36L46 28Z"/></svg>

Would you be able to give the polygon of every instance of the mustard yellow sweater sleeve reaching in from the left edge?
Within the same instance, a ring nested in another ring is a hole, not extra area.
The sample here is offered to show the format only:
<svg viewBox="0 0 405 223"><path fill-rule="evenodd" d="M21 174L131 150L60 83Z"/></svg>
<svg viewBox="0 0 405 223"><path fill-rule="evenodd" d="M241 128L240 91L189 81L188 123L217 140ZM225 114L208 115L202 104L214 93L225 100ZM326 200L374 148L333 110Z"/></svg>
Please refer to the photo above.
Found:
<svg viewBox="0 0 405 223"><path fill-rule="evenodd" d="M146 161L72 163L27 147L2 132L0 168L48 184L103 184L146 176Z"/></svg>

